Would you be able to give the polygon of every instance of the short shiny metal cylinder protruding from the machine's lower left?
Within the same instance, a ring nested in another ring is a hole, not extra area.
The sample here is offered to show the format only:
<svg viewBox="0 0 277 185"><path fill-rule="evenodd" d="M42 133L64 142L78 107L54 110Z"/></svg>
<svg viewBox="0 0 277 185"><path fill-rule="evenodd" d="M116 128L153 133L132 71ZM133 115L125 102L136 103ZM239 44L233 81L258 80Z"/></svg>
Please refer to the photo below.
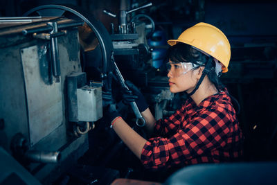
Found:
<svg viewBox="0 0 277 185"><path fill-rule="evenodd" d="M57 163L61 159L60 152L45 152L39 150L28 150L25 157L30 161L41 163Z"/></svg>

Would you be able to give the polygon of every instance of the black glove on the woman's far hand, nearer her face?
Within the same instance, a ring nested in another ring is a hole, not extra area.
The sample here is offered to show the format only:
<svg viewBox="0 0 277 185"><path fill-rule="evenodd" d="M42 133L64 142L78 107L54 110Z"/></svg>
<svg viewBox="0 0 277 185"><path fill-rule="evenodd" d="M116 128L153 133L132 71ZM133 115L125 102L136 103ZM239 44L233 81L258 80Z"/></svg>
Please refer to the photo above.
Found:
<svg viewBox="0 0 277 185"><path fill-rule="evenodd" d="M125 89L125 91L123 92L123 102L125 101L125 102L131 103L135 101L136 105L139 108L139 111L140 112L145 111L145 109L148 108L148 103L146 102L143 94L141 94L141 91L139 90L139 88L136 87L136 85L134 85L129 80L126 80L125 84L132 91L128 91L127 89Z"/></svg>

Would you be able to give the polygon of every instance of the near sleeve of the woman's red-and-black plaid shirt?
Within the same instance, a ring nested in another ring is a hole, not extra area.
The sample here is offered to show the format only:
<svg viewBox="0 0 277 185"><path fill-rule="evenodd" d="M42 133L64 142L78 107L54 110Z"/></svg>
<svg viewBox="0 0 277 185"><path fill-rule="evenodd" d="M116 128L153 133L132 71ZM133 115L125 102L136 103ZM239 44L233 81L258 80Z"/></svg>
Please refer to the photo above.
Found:
<svg viewBox="0 0 277 185"><path fill-rule="evenodd" d="M238 157L239 151L232 151L232 147L242 134L234 118L222 107L205 109L190 123L184 123L173 136L149 139L142 150L141 162L146 168L158 169Z"/></svg>

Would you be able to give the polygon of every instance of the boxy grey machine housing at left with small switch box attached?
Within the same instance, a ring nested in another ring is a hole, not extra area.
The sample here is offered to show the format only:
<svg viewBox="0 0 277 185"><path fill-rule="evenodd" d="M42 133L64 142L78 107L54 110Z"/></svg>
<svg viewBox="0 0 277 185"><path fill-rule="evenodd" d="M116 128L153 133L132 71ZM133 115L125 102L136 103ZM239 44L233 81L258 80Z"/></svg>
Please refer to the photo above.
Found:
<svg viewBox="0 0 277 185"><path fill-rule="evenodd" d="M83 25L65 17L1 19L1 148L42 182L84 155L87 132L102 117L101 87L87 85L82 73Z"/></svg>

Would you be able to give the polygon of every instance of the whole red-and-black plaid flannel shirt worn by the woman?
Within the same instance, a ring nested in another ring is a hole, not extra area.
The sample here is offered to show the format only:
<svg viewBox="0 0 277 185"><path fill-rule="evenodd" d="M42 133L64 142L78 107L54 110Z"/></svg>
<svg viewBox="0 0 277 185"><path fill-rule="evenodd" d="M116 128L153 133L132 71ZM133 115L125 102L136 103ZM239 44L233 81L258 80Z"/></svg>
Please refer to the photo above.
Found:
<svg viewBox="0 0 277 185"><path fill-rule="evenodd" d="M186 103L165 120L157 121L145 143L141 161L146 168L236 161L242 157L242 132L226 89L198 106Z"/></svg>

